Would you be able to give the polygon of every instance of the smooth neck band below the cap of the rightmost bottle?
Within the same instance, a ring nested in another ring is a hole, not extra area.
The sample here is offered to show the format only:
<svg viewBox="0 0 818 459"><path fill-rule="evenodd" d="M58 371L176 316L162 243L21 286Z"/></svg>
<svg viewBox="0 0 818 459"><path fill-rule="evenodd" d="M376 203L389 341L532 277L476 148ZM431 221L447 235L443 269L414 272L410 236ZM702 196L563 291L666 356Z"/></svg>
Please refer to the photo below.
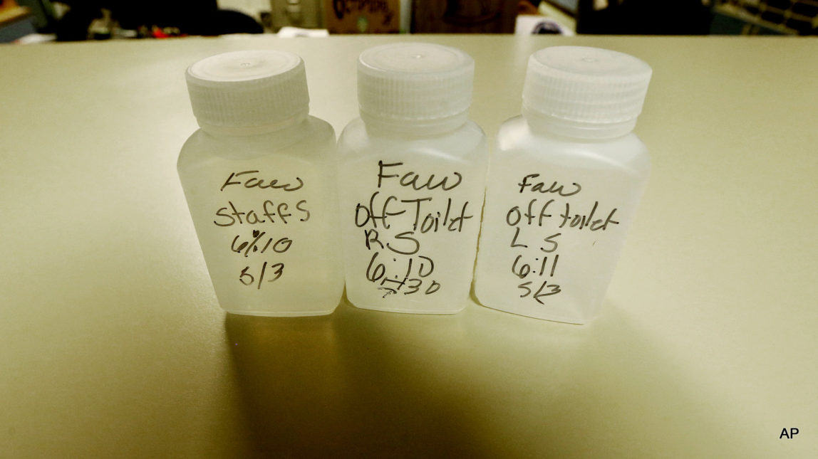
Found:
<svg viewBox="0 0 818 459"><path fill-rule="evenodd" d="M523 118L531 130L579 140L610 140L627 136L636 127L636 118L619 123L587 123L556 118L523 105Z"/></svg>

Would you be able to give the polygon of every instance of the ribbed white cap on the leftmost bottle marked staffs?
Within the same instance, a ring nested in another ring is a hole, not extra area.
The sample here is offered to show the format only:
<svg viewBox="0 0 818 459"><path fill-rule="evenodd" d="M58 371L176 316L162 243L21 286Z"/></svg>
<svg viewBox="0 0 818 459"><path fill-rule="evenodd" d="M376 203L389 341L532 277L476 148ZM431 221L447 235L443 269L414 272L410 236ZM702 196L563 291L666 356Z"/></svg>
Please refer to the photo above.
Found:
<svg viewBox="0 0 818 459"><path fill-rule="evenodd" d="M309 110L303 60L284 51L233 51L187 69L187 91L202 127L258 127Z"/></svg>

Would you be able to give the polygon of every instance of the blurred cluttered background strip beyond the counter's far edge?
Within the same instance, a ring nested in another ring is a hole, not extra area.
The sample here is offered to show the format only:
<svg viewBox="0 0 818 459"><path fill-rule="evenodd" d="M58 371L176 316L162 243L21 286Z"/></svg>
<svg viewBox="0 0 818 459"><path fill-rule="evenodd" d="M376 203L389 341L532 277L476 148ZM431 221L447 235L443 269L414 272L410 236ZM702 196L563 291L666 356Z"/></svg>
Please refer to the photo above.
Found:
<svg viewBox="0 0 818 459"><path fill-rule="evenodd" d="M816 35L818 0L0 0L0 42L235 33Z"/></svg>

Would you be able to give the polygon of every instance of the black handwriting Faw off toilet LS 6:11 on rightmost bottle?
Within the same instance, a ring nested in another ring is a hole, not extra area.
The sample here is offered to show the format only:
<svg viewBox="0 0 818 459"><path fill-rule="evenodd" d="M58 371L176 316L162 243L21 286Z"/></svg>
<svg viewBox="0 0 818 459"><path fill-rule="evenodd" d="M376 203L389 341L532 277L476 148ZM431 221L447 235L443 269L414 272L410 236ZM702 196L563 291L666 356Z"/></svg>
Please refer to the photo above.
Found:
<svg viewBox="0 0 818 459"><path fill-rule="evenodd" d="M582 196L579 183L543 180L536 173L523 176L515 193L525 199L506 212L514 260L507 269L521 281L520 298L545 305L547 297L562 292L560 257L564 262L571 256L560 243L567 237L581 237L580 232L604 233L619 225L617 208L605 207L599 200L587 206L590 201Z"/></svg>

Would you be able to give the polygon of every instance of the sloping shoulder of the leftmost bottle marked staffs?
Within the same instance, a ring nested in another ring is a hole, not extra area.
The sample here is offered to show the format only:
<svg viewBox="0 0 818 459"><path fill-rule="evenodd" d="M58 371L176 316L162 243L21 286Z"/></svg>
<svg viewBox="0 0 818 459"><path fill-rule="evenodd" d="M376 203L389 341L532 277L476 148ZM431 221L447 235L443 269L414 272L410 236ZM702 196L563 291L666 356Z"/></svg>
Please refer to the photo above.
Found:
<svg viewBox="0 0 818 459"><path fill-rule="evenodd" d="M178 167L216 160L242 161L270 154L313 160L335 151L335 130L330 123L308 116L281 131L252 136L219 136L199 129L182 145Z"/></svg>

